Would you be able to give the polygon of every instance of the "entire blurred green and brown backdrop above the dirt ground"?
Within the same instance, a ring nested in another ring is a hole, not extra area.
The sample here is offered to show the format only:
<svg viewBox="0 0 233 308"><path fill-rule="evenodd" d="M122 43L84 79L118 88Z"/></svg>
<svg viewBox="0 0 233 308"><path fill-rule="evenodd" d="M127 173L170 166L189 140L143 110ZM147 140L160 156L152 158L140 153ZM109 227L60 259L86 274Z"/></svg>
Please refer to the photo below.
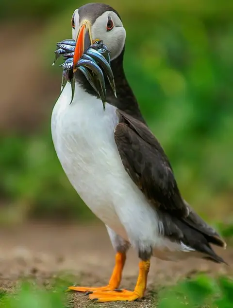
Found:
<svg viewBox="0 0 233 308"><path fill-rule="evenodd" d="M174 168L208 221L233 220L233 1L105 0L127 31L125 71ZM0 222L93 219L56 157L50 115L80 0L0 1Z"/></svg>

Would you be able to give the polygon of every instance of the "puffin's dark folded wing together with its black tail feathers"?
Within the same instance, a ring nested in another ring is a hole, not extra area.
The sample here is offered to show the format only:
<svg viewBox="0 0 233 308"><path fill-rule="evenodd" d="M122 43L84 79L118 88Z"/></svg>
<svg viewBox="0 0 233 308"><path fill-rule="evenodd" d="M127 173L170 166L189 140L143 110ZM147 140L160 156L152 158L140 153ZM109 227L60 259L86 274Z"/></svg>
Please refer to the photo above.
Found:
<svg viewBox="0 0 233 308"><path fill-rule="evenodd" d="M225 248L225 241L182 199L158 140L145 124L121 110L117 112L120 123L115 128L115 142L119 155L131 179L156 207L163 235L183 242L205 258L224 262L210 243Z"/></svg>

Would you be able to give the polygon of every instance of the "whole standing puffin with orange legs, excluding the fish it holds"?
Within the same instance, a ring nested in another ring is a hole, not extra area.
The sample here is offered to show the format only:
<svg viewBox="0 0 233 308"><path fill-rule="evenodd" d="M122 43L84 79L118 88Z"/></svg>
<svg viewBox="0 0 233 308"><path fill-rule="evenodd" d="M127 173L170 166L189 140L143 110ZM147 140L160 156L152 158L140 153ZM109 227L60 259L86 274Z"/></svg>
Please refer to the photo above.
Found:
<svg viewBox="0 0 233 308"><path fill-rule="evenodd" d="M117 11L88 3L71 19L76 39L74 67L83 52L102 40L111 54L116 96L106 84L106 106L82 72L74 69L75 91L67 83L51 115L58 159L84 203L105 224L116 252L103 287L69 287L97 302L143 298L151 257L189 257L225 263L211 245L226 242L183 199L166 153L146 123L124 72L126 30ZM134 290L119 289L127 252L139 258Z"/></svg>

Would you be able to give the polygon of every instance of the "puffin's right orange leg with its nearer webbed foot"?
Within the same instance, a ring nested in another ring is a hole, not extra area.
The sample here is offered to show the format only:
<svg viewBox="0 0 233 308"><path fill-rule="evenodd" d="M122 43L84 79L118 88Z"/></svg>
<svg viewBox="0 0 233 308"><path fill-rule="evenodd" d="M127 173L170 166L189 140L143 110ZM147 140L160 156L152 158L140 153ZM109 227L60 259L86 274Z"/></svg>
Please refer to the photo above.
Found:
<svg viewBox="0 0 233 308"><path fill-rule="evenodd" d="M147 288L147 276L150 270L150 260L139 262L139 274L134 291L112 290L94 291L89 294L89 298L96 302L116 302L116 301L135 301L144 296Z"/></svg>

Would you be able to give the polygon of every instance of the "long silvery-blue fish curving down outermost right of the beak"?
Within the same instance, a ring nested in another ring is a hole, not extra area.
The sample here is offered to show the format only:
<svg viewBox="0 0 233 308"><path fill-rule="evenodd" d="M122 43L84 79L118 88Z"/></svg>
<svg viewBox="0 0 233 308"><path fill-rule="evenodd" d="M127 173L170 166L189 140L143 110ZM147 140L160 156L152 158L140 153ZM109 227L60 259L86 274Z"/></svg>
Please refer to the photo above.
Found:
<svg viewBox="0 0 233 308"><path fill-rule="evenodd" d="M113 71L108 61L103 57L102 54L100 54L98 51L96 51L93 48L88 49L85 52L85 54L89 55L90 57L93 57L100 64L101 68L103 68L104 72L106 73L108 77L111 88L116 96L116 85L114 81L114 75L113 75Z"/></svg>

